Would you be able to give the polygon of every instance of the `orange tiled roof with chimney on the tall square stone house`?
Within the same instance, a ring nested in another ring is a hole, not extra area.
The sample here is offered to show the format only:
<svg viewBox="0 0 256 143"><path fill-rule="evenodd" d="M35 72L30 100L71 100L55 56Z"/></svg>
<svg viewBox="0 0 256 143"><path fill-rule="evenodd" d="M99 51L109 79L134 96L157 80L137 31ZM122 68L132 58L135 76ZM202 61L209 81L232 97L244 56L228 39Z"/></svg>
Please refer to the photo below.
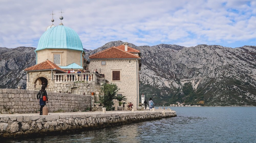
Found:
<svg viewBox="0 0 256 143"><path fill-rule="evenodd" d="M138 53L139 50L133 49L131 47L128 48L131 52ZM128 50L128 51L129 51ZM128 51L124 51L124 45L120 45L118 47L111 47L105 49L101 52L95 53L89 56L90 59L138 59L141 58L137 55L131 54Z"/></svg>

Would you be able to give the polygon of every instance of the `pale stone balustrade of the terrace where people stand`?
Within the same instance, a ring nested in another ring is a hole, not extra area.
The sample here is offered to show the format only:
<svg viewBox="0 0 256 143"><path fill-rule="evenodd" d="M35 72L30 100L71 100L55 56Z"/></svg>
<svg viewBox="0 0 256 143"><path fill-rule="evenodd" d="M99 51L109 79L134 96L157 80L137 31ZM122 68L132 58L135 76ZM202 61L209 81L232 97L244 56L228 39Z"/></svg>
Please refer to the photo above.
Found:
<svg viewBox="0 0 256 143"><path fill-rule="evenodd" d="M98 78L101 76L97 73L55 73L55 82L96 82L98 83Z"/></svg>

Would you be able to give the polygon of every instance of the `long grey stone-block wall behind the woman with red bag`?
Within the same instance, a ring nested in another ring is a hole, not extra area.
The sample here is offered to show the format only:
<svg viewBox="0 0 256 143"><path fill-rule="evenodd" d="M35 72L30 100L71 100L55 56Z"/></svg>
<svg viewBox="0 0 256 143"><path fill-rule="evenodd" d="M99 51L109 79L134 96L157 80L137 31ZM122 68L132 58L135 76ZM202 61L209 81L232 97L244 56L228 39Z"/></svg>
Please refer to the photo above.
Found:
<svg viewBox="0 0 256 143"><path fill-rule="evenodd" d="M0 89L1 113L36 113L39 111L38 91L24 89ZM49 112L74 110L85 111L90 107L89 95L47 92L49 103L46 106ZM92 105L94 104L92 96Z"/></svg>

